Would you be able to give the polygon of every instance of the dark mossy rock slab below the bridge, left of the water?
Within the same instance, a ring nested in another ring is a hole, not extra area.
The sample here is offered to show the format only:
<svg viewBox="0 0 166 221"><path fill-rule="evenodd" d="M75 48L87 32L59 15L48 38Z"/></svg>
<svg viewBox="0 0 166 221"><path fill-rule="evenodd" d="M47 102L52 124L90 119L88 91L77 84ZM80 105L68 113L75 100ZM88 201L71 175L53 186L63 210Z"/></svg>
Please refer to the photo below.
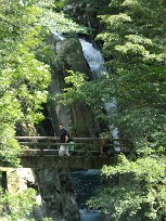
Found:
<svg viewBox="0 0 166 221"><path fill-rule="evenodd" d="M36 180L46 217L53 221L78 221L79 213L68 170L38 169Z"/></svg>

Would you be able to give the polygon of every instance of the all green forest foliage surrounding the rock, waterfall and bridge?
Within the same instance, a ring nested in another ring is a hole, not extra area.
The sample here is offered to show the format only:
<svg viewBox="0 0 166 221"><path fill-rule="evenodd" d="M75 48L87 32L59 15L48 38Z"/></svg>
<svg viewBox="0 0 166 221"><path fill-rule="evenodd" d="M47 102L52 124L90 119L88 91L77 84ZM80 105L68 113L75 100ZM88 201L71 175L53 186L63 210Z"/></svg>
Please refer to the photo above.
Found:
<svg viewBox="0 0 166 221"><path fill-rule="evenodd" d="M166 220L166 1L0 3L1 161L20 164L22 146L14 136L20 130L37 134L44 103L72 106L81 100L97 121L118 128L119 138L132 143L128 156L119 154L115 166L102 168L105 187L89 207L100 208L108 220ZM54 32L95 43L107 72L92 81L85 73L67 70L63 93L50 94L51 69L63 65L49 44ZM111 101L116 112L106 115L104 104ZM34 197L34 190L1 191L0 219L23 219Z"/></svg>

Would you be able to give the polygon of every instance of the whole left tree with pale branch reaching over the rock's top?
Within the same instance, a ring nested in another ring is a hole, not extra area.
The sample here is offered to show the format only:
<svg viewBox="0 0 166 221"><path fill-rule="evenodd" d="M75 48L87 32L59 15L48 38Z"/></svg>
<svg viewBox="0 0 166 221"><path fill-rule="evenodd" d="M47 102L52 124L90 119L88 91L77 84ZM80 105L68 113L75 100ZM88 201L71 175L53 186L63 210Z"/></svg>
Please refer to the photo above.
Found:
<svg viewBox="0 0 166 221"><path fill-rule="evenodd" d="M86 30L56 12L54 1L43 0L8 4L1 0L0 30L0 157L14 164L21 151L15 132L36 133L35 125L43 119L40 110L48 96L50 65L59 63L48 36Z"/></svg>

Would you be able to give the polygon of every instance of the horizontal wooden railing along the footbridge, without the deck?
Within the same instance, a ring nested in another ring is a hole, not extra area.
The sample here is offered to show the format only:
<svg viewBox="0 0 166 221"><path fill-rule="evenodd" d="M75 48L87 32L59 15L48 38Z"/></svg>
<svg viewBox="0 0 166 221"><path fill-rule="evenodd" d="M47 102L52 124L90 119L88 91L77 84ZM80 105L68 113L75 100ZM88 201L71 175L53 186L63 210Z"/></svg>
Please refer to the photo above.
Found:
<svg viewBox="0 0 166 221"><path fill-rule="evenodd" d="M73 138L73 143L60 143L60 138L58 136L15 136L21 145L23 145L24 150L43 152L46 150L58 153L60 145L74 145L73 153L77 155L91 155L91 154L100 154L100 148L102 146L102 139L100 138ZM106 146L110 147L110 153L115 153L116 150L120 152L129 152L132 147L131 140L120 140L120 139L112 139L110 144Z"/></svg>

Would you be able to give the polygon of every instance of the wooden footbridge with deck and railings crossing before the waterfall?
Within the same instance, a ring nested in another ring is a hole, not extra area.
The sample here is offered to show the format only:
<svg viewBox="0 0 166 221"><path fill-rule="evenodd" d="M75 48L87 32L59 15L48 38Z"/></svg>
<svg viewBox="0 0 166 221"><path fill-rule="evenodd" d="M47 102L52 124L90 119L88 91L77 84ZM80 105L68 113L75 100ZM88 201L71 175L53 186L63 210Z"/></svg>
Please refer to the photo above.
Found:
<svg viewBox="0 0 166 221"><path fill-rule="evenodd" d="M18 156L24 168L69 168L69 169L101 169L103 165L116 162L116 156L120 152L128 153L129 141L113 139L108 144L107 156L100 156L101 139L74 138L74 144L60 143L56 136L16 136L23 152ZM59 156L60 145L74 145L69 156ZM120 150L119 150L120 148ZM0 161L1 167L10 167Z"/></svg>

